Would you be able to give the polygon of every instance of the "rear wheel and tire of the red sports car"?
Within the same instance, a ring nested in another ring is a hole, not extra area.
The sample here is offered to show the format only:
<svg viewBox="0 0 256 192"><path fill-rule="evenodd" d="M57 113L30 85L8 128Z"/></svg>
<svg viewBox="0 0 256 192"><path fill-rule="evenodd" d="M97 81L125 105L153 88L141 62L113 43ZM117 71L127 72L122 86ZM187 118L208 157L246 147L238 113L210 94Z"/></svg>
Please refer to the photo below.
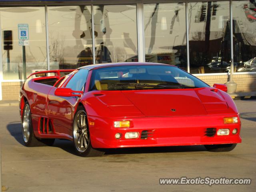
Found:
<svg viewBox="0 0 256 192"><path fill-rule="evenodd" d="M55 139L39 139L34 136L31 111L28 102L25 102L22 114L22 136L25 146L52 146Z"/></svg>

